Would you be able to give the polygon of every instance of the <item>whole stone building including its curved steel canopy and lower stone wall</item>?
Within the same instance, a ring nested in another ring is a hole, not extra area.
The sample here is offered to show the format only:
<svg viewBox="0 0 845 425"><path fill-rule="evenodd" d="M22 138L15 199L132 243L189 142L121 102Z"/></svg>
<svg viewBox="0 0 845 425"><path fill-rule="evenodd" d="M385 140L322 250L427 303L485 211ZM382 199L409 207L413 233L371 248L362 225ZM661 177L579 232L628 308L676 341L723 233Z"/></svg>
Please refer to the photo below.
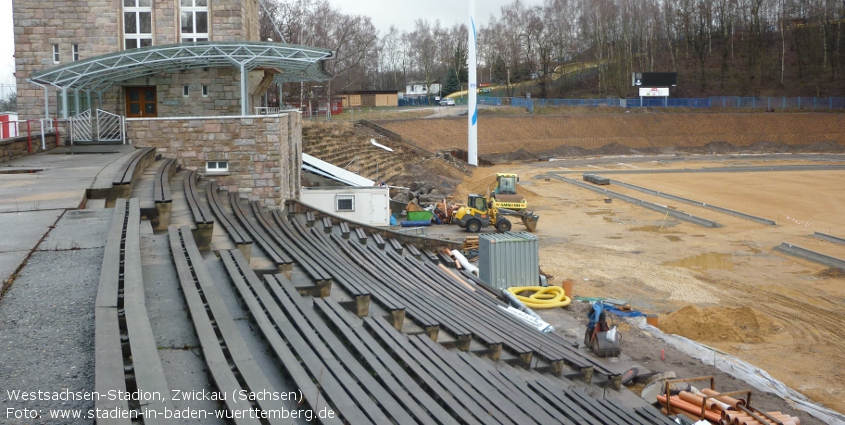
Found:
<svg viewBox="0 0 845 425"><path fill-rule="evenodd" d="M58 118L70 143L156 147L224 188L281 205L299 191L301 119L256 107L274 81L330 79L322 62L332 52L259 41L259 6L15 0L19 115Z"/></svg>

